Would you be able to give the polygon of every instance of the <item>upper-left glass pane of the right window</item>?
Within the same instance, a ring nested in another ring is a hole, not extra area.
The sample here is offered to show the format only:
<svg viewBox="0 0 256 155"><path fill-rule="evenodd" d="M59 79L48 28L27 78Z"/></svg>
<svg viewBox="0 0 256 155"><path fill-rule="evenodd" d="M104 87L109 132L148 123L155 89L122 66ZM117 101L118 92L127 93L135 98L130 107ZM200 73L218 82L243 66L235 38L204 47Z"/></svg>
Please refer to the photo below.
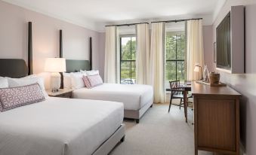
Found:
<svg viewBox="0 0 256 155"><path fill-rule="evenodd" d="M176 59L176 35L172 33L166 36L166 59Z"/></svg>

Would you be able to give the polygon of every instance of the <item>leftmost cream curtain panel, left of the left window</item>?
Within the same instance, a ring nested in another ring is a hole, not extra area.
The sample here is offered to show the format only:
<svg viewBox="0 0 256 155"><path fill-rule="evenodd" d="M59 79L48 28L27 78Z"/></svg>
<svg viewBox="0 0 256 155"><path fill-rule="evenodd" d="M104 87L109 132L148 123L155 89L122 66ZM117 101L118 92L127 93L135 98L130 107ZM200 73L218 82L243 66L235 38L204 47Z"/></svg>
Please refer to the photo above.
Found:
<svg viewBox="0 0 256 155"><path fill-rule="evenodd" d="M116 26L106 26L104 82L116 83Z"/></svg>

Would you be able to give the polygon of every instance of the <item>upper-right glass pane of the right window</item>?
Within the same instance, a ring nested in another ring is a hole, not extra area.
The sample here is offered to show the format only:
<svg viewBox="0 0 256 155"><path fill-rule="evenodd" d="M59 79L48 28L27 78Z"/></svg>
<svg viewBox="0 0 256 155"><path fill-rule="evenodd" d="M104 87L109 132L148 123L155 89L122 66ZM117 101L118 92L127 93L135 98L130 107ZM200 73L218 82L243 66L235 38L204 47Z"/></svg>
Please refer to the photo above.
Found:
<svg viewBox="0 0 256 155"><path fill-rule="evenodd" d="M177 59L185 59L185 35L177 35Z"/></svg>

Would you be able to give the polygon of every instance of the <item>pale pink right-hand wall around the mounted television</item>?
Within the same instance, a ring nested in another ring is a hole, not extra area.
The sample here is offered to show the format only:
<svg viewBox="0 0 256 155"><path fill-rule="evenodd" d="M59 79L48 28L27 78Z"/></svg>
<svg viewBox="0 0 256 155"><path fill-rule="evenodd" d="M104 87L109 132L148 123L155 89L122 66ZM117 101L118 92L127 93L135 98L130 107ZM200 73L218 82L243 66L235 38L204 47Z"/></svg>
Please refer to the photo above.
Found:
<svg viewBox="0 0 256 155"><path fill-rule="evenodd" d="M215 29L230 11L231 6L245 5L245 72L246 74L229 74L221 72L221 81L242 94L240 102L241 142L245 154L256 152L256 2L249 0L227 0L213 24L213 42ZM214 65L214 63L212 64Z"/></svg>

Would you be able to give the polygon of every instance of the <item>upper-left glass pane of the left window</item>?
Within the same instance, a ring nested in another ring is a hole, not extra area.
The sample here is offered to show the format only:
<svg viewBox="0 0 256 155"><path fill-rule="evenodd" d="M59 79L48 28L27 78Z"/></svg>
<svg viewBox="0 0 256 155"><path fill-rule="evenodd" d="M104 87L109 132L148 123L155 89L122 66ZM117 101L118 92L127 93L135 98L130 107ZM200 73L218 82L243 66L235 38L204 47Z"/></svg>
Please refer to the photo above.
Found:
<svg viewBox="0 0 256 155"><path fill-rule="evenodd" d="M122 37L121 45L121 59L131 59L131 37Z"/></svg>

